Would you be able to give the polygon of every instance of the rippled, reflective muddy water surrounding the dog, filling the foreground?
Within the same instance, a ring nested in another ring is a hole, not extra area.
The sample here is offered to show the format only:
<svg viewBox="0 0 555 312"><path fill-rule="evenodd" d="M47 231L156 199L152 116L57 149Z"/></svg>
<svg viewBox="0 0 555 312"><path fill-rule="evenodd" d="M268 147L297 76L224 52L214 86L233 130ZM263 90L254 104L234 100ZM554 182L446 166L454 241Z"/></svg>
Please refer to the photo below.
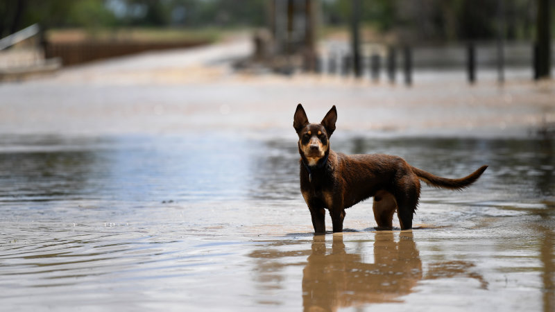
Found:
<svg viewBox="0 0 555 312"><path fill-rule="evenodd" d="M490 168L424 187L412 231L376 232L368 200L313 236L296 141L273 137L1 137L1 309L554 311L555 141L336 135Z"/></svg>

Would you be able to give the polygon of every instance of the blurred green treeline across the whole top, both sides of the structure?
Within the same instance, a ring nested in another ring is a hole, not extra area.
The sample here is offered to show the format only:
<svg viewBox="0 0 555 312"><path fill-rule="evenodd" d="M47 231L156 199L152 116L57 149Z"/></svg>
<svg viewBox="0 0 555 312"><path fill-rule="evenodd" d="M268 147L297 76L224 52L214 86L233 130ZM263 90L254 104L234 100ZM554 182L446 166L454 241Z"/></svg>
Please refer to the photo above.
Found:
<svg viewBox="0 0 555 312"><path fill-rule="evenodd" d="M78 27L92 32L127 26L265 26L271 1L0 0L0 36L34 23L46 28ZM348 26L352 0L320 1L325 25ZM507 39L531 40L536 27L536 1L530 0L360 1L363 25L415 41L491 40L499 30L500 1L504 4ZM552 24L555 26L555 18Z"/></svg>

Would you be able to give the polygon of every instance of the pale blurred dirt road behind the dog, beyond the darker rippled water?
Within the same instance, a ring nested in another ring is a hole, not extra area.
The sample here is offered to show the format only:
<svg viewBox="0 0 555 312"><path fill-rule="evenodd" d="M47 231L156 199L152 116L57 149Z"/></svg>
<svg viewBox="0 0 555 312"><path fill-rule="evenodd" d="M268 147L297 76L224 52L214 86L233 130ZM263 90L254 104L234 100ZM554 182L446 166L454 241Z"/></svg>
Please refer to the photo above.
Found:
<svg viewBox="0 0 555 312"><path fill-rule="evenodd" d="M291 130L297 103L319 119L331 105L338 128L377 135L528 135L555 122L555 82L418 73L413 87L337 76L232 70L246 40L144 53L0 85L0 132L103 134L189 130ZM460 74L460 75L459 75ZM418 76L425 79L418 80ZM284 133L284 132L283 132Z"/></svg>

